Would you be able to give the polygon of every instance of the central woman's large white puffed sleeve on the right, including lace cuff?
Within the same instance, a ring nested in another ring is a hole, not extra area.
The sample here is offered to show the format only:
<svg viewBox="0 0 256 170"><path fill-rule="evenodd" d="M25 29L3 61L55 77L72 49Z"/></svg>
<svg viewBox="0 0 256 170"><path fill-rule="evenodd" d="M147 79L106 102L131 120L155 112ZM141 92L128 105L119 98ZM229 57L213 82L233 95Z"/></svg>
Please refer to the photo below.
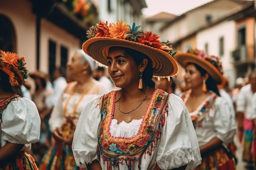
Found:
<svg viewBox="0 0 256 170"><path fill-rule="evenodd" d="M187 165L186 169L191 170L201 163L202 158L191 118L180 97L170 95L166 114L157 165L163 170Z"/></svg>

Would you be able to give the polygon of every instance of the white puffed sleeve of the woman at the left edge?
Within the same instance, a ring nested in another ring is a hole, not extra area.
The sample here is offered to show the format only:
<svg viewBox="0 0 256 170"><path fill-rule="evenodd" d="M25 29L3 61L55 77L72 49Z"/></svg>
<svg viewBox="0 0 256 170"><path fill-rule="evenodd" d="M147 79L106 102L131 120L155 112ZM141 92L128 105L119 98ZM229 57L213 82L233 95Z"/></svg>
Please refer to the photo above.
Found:
<svg viewBox="0 0 256 170"><path fill-rule="evenodd" d="M2 140L31 144L39 140L40 117L34 102L18 97L2 112Z"/></svg>

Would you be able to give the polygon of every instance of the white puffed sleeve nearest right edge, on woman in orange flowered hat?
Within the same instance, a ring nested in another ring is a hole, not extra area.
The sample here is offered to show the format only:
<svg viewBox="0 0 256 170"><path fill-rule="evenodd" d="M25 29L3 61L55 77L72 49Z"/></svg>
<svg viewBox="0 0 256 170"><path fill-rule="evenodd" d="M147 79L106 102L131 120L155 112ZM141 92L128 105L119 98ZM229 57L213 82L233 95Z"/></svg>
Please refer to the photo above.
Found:
<svg viewBox="0 0 256 170"><path fill-rule="evenodd" d="M222 97L217 97L214 102L214 129L216 130L216 137L225 144L231 142L236 133L236 119L231 112L228 103Z"/></svg>

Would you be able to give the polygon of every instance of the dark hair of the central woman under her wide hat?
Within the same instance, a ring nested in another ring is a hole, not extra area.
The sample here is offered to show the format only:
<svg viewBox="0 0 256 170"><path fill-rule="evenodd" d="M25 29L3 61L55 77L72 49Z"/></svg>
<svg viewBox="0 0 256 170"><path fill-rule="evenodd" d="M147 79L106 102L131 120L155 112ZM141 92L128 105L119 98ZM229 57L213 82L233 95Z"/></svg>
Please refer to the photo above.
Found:
<svg viewBox="0 0 256 170"><path fill-rule="evenodd" d="M142 79L148 85L149 87L155 88L155 82L152 80L153 77L153 68L152 68L152 61L150 58L145 55L144 53L141 53L139 51L129 49L129 48L124 48L126 53L128 53L132 58L134 59L136 64L141 64L142 60L146 58L148 60L148 65L146 66L145 70L143 71L142 74Z"/></svg>

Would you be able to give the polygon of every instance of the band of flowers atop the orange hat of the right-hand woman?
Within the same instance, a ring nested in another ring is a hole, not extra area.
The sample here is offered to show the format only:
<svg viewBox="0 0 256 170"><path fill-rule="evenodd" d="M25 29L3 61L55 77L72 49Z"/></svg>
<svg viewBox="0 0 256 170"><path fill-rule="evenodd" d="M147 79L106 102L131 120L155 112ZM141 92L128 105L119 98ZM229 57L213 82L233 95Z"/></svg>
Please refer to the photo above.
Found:
<svg viewBox="0 0 256 170"><path fill-rule="evenodd" d="M218 69L218 71L220 71L221 74L223 74L222 64L220 62L219 57L216 57L214 55L208 55L205 51L198 50L197 48L195 48L195 49L189 48L189 49L187 49L186 52L193 53L193 54L197 55L199 58L210 62L213 66L215 66Z"/></svg>

